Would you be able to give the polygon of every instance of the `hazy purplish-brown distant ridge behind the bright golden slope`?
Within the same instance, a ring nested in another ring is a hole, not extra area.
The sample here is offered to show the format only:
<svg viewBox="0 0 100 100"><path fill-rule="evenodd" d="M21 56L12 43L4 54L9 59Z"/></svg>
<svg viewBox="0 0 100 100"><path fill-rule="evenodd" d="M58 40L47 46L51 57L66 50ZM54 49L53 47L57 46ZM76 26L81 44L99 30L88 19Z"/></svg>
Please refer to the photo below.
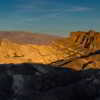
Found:
<svg viewBox="0 0 100 100"><path fill-rule="evenodd" d="M59 36L49 34L39 34L21 31L0 31L0 39L7 39L21 44L48 44L52 40L60 38Z"/></svg>

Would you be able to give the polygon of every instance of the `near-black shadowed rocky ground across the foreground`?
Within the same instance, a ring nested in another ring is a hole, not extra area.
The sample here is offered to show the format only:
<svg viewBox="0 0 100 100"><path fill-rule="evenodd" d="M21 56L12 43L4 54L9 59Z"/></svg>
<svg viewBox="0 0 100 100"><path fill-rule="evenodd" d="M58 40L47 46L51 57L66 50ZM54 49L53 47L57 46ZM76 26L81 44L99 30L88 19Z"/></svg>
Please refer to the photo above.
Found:
<svg viewBox="0 0 100 100"><path fill-rule="evenodd" d="M0 100L100 100L100 70L1 64Z"/></svg>

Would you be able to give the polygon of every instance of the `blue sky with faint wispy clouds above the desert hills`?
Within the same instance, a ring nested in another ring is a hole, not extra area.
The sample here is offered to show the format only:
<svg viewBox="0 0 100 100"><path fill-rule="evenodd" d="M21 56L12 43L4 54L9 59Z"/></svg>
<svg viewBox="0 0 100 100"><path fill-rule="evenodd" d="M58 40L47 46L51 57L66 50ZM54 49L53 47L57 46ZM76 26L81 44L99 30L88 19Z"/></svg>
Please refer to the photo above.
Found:
<svg viewBox="0 0 100 100"><path fill-rule="evenodd" d="M100 31L100 0L0 0L0 30L67 35Z"/></svg>

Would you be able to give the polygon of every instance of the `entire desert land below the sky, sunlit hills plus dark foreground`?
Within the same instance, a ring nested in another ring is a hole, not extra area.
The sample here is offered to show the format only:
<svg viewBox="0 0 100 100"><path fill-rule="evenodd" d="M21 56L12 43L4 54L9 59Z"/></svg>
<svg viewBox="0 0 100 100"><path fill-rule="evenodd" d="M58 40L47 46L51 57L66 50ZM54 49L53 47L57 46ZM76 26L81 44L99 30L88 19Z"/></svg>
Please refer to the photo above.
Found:
<svg viewBox="0 0 100 100"><path fill-rule="evenodd" d="M0 32L0 100L99 100L99 42L93 30Z"/></svg>

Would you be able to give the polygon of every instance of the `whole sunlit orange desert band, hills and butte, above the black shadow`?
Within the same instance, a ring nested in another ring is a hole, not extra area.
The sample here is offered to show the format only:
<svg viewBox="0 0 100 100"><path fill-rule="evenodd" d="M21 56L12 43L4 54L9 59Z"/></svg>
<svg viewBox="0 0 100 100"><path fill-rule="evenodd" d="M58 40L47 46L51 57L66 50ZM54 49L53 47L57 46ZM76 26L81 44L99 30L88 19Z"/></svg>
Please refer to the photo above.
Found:
<svg viewBox="0 0 100 100"><path fill-rule="evenodd" d="M71 32L59 37L31 32L0 32L0 63L41 63L84 70L100 69L100 33Z"/></svg>

